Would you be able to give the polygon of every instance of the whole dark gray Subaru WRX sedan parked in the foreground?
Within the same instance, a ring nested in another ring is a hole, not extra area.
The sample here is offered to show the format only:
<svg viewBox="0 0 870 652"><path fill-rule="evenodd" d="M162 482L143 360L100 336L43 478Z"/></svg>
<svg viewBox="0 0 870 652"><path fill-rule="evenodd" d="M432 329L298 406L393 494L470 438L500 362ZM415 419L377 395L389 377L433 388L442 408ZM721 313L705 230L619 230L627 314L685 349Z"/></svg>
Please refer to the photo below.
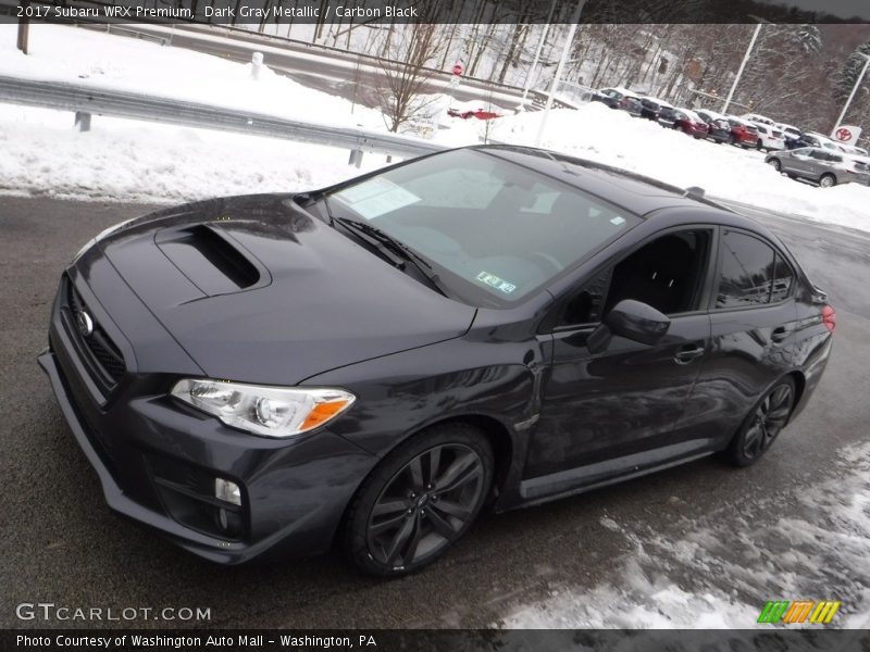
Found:
<svg viewBox="0 0 870 652"><path fill-rule="evenodd" d="M113 510L215 562L340 543L389 576L484 507L750 465L833 330L762 226L480 147L110 229L63 273L39 362Z"/></svg>

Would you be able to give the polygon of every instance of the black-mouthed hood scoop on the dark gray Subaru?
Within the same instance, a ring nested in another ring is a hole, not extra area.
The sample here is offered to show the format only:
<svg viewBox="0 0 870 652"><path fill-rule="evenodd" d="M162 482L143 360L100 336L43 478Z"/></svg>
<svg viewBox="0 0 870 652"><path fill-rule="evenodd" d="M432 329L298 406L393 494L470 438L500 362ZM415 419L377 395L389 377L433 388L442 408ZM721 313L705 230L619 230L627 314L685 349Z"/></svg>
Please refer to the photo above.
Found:
<svg viewBox="0 0 870 652"><path fill-rule="evenodd" d="M235 238L211 224L159 230L154 243L206 296L228 294L269 285L263 265Z"/></svg>

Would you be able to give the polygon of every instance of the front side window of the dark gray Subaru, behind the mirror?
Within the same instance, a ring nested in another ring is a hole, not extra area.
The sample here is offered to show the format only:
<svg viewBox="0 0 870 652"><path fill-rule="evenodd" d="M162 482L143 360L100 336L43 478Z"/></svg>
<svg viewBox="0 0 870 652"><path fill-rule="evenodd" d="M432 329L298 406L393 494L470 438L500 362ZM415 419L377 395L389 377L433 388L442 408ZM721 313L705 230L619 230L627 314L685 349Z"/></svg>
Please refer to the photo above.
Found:
<svg viewBox="0 0 870 652"><path fill-rule="evenodd" d="M671 233L644 244L587 281L566 304L557 327L592 325L623 299L647 303L666 315L700 308L712 234Z"/></svg>

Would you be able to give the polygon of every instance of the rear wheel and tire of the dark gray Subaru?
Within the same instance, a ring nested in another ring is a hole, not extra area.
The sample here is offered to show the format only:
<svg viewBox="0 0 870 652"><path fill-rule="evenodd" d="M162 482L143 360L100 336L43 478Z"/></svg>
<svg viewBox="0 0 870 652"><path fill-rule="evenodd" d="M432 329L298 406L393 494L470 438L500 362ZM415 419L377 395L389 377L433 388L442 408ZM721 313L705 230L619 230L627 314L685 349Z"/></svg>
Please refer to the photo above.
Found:
<svg viewBox="0 0 870 652"><path fill-rule="evenodd" d="M728 448L728 460L735 466L758 462L788 423L795 406L795 381L785 376L771 387L744 419Z"/></svg>

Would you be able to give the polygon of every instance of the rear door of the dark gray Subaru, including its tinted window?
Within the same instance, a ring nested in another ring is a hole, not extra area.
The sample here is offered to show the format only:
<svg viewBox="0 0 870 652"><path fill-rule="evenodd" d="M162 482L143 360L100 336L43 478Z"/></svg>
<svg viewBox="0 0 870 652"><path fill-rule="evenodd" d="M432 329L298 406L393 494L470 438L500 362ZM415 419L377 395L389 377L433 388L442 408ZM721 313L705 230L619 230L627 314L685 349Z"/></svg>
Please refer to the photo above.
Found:
<svg viewBox="0 0 870 652"><path fill-rule="evenodd" d="M680 429L724 446L765 390L791 368L795 273L774 243L723 228L710 300L711 349Z"/></svg>

